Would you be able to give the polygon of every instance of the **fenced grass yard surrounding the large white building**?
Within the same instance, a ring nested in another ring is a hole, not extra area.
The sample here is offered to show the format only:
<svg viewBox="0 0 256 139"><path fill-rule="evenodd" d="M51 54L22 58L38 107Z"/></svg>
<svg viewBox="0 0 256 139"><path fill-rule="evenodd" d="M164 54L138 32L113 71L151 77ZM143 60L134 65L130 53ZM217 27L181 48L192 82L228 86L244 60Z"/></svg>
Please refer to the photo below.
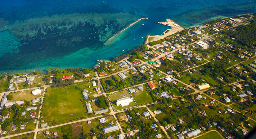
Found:
<svg viewBox="0 0 256 139"><path fill-rule="evenodd" d="M135 103L134 101L132 101L132 102L130 103L130 105L128 105L128 106L124 106L124 107L122 107L122 106L120 106L120 105L117 106L117 105L116 105L116 100L117 100L117 99L124 98L124 97L121 96L121 94L124 94L125 97L131 98L131 95L129 94L128 90L123 90L123 91L120 91L120 92L108 94L108 97L109 97L109 99L110 99L110 102L111 102L112 106L114 107L114 110L121 110L121 109L124 109L124 108L136 106L136 103Z"/></svg>

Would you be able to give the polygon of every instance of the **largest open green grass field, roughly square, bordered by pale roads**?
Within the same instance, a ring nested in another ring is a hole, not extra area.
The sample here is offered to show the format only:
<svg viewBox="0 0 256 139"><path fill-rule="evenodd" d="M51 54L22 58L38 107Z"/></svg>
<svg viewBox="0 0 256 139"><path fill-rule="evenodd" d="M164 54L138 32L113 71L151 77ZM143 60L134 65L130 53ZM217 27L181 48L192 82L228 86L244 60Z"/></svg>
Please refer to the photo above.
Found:
<svg viewBox="0 0 256 139"><path fill-rule="evenodd" d="M56 89L48 87L41 119L56 125L87 117L83 96L77 86L56 87Z"/></svg>

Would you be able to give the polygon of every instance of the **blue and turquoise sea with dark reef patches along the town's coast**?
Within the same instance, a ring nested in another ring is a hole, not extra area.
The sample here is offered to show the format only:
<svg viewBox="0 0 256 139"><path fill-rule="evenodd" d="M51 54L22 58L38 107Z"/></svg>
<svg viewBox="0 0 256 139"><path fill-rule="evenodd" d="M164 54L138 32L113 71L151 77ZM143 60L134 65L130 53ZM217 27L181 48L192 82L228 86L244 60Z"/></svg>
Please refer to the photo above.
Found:
<svg viewBox="0 0 256 139"><path fill-rule="evenodd" d="M168 27L158 22L167 18L188 28L209 19L255 11L255 0L3 0L0 72L93 68L97 60L111 61L141 45L148 34L160 35ZM145 16L148 19L104 45Z"/></svg>

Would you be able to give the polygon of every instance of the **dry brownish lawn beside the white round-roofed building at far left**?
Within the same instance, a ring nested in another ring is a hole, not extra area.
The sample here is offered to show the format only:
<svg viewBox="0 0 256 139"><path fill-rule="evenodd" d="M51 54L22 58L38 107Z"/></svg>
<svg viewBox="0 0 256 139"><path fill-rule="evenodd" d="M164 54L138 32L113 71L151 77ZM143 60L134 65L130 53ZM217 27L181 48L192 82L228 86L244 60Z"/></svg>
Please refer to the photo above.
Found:
<svg viewBox="0 0 256 139"><path fill-rule="evenodd" d="M26 90L26 91L18 91L14 93L10 93L13 96L13 99L8 100L8 102L20 101L25 99L26 101L31 101L32 99L39 98L41 95L32 95L31 92L33 90ZM41 91L42 94L43 90Z"/></svg>

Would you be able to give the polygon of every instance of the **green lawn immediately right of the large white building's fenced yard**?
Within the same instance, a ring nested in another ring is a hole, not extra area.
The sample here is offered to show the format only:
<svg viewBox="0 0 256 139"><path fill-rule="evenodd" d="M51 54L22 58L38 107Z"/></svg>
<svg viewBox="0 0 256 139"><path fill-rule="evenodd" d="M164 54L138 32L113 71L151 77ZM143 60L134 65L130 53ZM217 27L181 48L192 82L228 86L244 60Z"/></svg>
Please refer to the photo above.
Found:
<svg viewBox="0 0 256 139"><path fill-rule="evenodd" d="M131 93L131 94L133 99L136 101L138 105L153 102L153 99L149 94L149 91L146 85L143 85L143 91L139 91L137 88L135 88L135 90L137 91L137 93Z"/></svg>

